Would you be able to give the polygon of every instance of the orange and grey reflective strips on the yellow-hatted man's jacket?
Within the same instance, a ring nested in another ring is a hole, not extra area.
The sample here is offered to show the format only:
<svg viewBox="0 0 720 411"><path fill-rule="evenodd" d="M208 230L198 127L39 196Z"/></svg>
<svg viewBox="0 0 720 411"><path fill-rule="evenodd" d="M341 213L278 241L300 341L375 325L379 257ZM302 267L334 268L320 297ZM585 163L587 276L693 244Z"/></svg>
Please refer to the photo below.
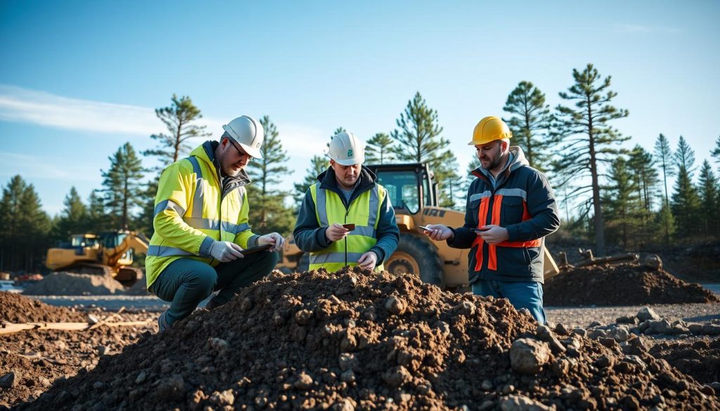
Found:
<svg viewBox="0 0 720 411"><path fill-rule="evenodd" d="M500 210L503 207L503 197L521 197L523 201L523 217L522 221L530 220L531 215L528 213L528 204L526 202L526 192L523 189L498 189L495 194L491 191L483 191L482 193L472 194L470 201L476 201L480 199L480 208L477 211L477 228L483 225L500 225ZM490 210L490 201L492 200L492 217L490 222L487 222L487 213ZM483 245L485 240L482 240L480 235L475 238L472 245L477 245L475 250L475 271L480 271L482 268L483 261ZM542 239L529 241L508 241L505 240L502 243L488 244L487 245L487 269L492 271L498 270L498 247L540 247L542 245Z"/></svg>

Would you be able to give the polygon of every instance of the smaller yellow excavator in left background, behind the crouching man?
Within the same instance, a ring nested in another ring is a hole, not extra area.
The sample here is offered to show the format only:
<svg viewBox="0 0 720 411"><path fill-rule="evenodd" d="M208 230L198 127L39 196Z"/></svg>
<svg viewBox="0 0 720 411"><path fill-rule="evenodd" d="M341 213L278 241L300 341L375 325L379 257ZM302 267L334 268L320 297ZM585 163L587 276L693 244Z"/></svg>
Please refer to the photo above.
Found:
<svg viewBox="0 0 720 411"><path fill-rule="evenodd" d="M71 235L69 243L50 248L45 266L52 271L110 275L124 286L143 278L131 267L135 253L148 253L150 241L140 232L113 231Z"/></svg>

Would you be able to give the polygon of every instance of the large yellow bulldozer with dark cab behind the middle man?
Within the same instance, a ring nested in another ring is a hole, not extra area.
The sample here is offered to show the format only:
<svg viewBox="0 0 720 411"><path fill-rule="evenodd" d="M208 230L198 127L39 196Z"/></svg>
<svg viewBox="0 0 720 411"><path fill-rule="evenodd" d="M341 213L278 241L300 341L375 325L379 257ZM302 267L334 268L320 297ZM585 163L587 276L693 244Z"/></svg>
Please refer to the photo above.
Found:
<svg viewBox="0 0 720 411"><path fill-rule="evenodd" d="M427 164L382 164L367 166L377 175L379 184L387 189L395 220L400 228L397 250L385 261L385 269L393 274L410 273L430 284L444 289L465 291L468 287L467 254L469 250L450 248L444 241L430 240L419 225L442 224L462 227L464 212L438 207L438 184ZM557 274L557 264L544 249L545 279ZM277 268L282 271L305 271L310 258L287 238L282 260Z"/></svg>

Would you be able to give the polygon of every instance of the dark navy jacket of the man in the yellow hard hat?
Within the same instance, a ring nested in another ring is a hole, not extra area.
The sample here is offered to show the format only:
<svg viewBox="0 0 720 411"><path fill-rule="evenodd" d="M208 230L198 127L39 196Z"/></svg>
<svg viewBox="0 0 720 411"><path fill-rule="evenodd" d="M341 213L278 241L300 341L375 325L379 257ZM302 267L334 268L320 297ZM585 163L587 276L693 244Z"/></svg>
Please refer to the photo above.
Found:
<svg viewBox="0 0 720 411"><path fill-rule="evenodd" d="M473 174L477 179L472 181L467 193L465 225L453 228L454 238L448 240L453 248L471 248L469 260L469 280L471 283L480 279L498 281L539 281L543 282L542 248L538 247L503 247L495 246L497 269L488 268L489 247L482 242L482 264L475 269L477 262L477 235L474 228L492 224L495 197L502 195L500 202L500 227L508 230L509 242L526 242L541 239L551 234L560 226L557 204L546 177L540 171L528 165L528 161L519 147L511 147L513 160L505 171L498 175L497 185L492 188L485 171L477 168ZM478 221L481 214L482 198L487 200L487 217ZM500 200L498 200L500 201ZM497 211L496 211L497 213ZM523 214L528 220L523 221Z"/></svg>

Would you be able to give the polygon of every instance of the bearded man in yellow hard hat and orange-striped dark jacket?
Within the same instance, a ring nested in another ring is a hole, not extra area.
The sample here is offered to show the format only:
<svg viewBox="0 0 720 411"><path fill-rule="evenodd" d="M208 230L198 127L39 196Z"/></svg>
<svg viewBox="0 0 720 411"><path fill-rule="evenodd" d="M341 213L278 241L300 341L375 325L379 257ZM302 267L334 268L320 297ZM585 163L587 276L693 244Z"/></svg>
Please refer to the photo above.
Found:
<svg viewBox="0 0 720 411"><path fill-rule="evenodd" d="M541 323L543 238L560 225L552 188L543 173L528 165L523 150L510 146L508 125L485 117L472 141L480 167L472 173L465 225L428 225L433 240L453 248L471 248L469 281L474 294L507 298Z"/></svg>

